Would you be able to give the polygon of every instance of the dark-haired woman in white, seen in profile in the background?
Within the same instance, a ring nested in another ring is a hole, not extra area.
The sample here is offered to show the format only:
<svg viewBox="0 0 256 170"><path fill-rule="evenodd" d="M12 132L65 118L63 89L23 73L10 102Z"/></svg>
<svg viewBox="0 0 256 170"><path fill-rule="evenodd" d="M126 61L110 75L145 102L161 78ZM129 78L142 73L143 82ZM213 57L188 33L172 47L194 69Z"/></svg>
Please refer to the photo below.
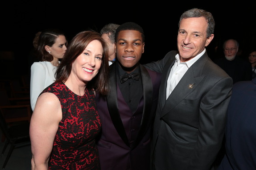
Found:
<svg viewBox="0 0 256 170"><path fill-rule="evenodd" d="M40 62L34 62L30 73L30 104L34 111L37 97L55 81L55 71L66 52L66 37L57 29L41 32L38 39L37 55Z"/></svg>

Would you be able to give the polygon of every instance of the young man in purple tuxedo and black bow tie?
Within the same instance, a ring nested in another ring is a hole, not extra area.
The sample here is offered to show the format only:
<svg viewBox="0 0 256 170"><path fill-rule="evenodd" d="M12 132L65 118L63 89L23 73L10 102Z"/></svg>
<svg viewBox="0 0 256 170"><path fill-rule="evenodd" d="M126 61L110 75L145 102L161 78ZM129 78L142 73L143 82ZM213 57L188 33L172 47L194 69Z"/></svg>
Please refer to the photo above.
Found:
<svg viewBox="0 0 256 170"><path fill-rule="evenodd" d="M110 66L111 90L96 95L102 121L97 142L101 170L149 170L150 137L161 74L139 63L143 29L128 22L116 29L116 62Z"/></svg>

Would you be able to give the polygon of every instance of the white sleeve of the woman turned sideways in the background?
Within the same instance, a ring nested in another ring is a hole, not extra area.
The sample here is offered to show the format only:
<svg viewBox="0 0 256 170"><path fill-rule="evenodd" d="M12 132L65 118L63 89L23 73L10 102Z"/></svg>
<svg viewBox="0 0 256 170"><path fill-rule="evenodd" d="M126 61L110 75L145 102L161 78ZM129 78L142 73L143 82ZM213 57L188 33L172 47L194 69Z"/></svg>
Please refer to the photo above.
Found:
<svg viewBox="0 0 256 170"><path fill-rule="evenodd" d="M41 63L35 62L31 66L30 75L30 104L32 111L34 111L38 96L44 90L44 85L45 68Z"/></svg>

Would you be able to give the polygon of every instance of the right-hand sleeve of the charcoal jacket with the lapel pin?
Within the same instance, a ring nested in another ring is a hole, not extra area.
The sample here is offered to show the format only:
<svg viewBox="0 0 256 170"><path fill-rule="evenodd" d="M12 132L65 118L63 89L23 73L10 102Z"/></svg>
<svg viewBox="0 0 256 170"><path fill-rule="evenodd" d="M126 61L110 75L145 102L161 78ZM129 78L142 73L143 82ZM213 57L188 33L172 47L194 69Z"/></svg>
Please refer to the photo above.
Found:
<svg viewBox="0 0 256 170"><path fill-rule="evenodd" d="M190 165L193 170L209 170L222 146L226 114L231 99L232 79L220 79L202 98L198 140Z"/></svg>

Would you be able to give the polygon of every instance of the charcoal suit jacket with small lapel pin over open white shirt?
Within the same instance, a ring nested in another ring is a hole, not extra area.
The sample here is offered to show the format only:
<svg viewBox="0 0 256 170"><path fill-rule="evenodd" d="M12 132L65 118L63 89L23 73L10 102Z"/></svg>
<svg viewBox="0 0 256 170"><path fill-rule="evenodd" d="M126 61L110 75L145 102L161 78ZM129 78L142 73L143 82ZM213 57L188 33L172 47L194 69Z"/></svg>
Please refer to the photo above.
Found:
<svg viewBox="0 0 256 170"><path fill-rule="evenodd" d="M153 170L211 170L222 142L232 79L205 52L166 100L178 51L146 67L162 73L153 127Z"/></svg>

